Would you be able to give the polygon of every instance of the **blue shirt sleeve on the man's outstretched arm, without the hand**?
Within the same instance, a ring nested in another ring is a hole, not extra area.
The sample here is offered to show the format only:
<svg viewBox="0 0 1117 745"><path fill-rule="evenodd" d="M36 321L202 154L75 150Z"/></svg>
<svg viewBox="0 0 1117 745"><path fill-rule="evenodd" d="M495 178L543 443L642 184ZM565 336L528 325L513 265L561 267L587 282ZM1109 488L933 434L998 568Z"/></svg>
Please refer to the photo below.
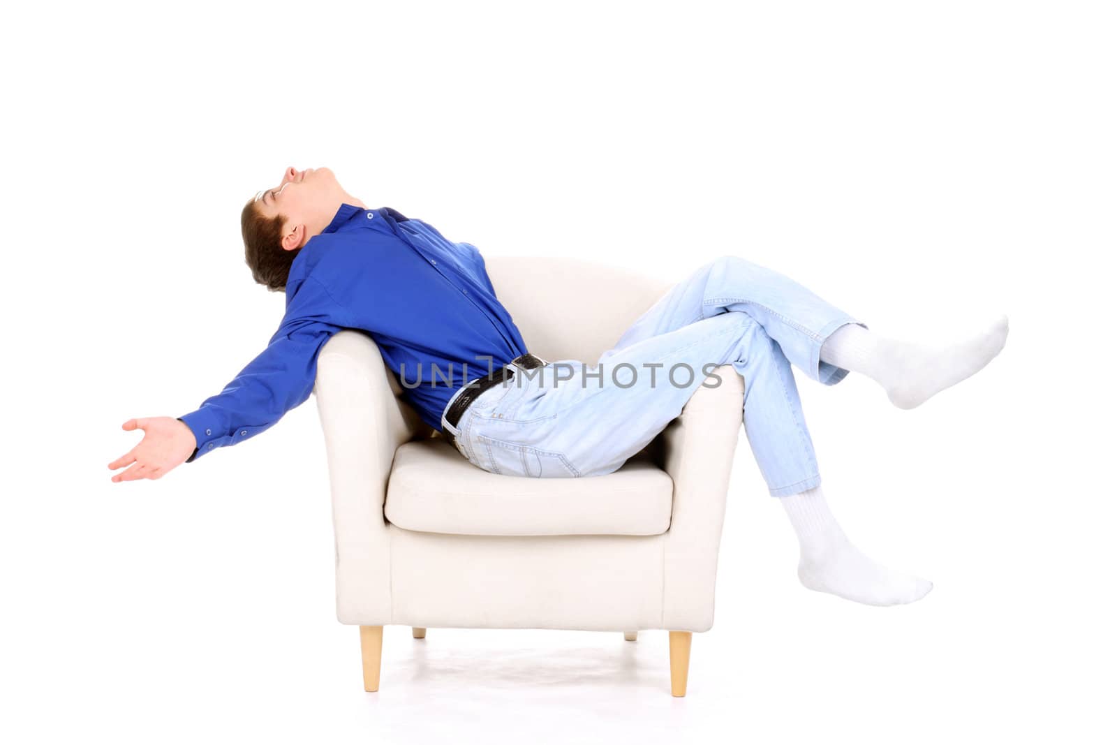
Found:
<svg viewBox="0 0 1117 745"><path fill-rule="evenodd" d="M306 401L314 390L318 352L344 327L338 323L344 317L344 309L326 288L307 277L288 302L267 348L220 393L178 418L194 433L197 443L187 462L262 432Z"/></svg>

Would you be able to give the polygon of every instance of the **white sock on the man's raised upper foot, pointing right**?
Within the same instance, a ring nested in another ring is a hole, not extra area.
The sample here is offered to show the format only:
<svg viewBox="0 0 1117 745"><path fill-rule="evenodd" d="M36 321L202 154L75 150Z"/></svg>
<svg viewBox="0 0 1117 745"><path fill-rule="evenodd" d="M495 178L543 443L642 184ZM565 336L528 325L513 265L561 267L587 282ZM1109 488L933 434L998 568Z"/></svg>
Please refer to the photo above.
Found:
<svg viewBox="0 0 1117 745"><path fill-rule="evenodd" d="M970 378L1004 347L1009 317L1001 315L954 344L930 346L879 336L856 323L840 326L822 344L823 362L868 375L900 409L914 409L935 393Z"/></svg>

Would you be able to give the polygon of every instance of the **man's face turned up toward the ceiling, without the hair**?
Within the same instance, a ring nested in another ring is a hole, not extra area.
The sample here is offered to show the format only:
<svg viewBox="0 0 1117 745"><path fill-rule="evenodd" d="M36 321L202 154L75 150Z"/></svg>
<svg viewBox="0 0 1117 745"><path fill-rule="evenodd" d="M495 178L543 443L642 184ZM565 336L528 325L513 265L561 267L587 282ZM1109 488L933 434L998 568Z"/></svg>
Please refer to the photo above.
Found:
<svg viewBox="0 0 1117 745"><path fill-rule="evenodd" d="M322 232L344 199L345 191L330 169L288 166L279 183L257 192L254 202L264 217L284 216L284 248L292 250Z"/></svg>

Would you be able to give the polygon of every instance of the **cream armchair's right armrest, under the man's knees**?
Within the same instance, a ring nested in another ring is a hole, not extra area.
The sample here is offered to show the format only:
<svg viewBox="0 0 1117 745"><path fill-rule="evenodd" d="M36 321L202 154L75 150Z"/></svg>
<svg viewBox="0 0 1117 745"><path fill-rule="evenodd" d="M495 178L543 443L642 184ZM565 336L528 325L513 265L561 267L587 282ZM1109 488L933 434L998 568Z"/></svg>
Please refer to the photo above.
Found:
<svg viewBox="0 0 1117 745"><path fill-rule="evenodd" d="M707 382L714 375L720 384L695 391L652 450L675 481L663 541L663 628L675 631L714 624L717 552L745 397L733 365L722 365Z"/></svg>

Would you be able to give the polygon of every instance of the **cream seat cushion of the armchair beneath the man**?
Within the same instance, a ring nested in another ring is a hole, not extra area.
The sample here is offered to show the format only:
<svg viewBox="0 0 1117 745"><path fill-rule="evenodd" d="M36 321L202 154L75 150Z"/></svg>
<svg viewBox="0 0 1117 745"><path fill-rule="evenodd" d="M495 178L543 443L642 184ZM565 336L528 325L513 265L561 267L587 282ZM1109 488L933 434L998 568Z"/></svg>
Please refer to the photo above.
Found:
<svg viewBox="0 0 1117 745"><path fill-rule="evenodd" d="M395 451L384 515L409 531L459 535L659 535L674 484L645 453L604 476L489 474L441 437Z"/></svg>

